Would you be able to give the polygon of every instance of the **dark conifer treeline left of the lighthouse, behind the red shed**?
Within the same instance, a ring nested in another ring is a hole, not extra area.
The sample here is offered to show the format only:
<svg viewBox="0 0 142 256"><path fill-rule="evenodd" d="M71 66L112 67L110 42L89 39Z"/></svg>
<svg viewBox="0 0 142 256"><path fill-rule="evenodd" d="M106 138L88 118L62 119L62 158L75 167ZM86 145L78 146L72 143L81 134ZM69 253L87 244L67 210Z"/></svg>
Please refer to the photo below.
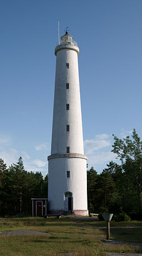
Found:
<svg viewBox="0 0 142 256"><path fill-rule="evenodd" d="M0 216L31 215L31 198L47 198L48 175L24 170L22 157L7 168L0 158Z"/></svg>

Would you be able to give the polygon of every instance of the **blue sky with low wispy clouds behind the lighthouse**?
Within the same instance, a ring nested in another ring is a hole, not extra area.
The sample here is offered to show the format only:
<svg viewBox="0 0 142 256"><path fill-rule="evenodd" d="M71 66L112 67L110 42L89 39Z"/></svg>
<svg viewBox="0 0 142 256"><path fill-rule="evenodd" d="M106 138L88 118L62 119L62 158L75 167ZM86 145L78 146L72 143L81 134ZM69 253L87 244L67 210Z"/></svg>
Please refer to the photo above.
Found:
<svg viewBox="0 0 142 256"><path fill-rule="evenodd" d="M80 47L83 139L89 167L115 160L112 133L141 137L141 0L0 1L0 157L48 172L56 57L69 27Z"/></svg>

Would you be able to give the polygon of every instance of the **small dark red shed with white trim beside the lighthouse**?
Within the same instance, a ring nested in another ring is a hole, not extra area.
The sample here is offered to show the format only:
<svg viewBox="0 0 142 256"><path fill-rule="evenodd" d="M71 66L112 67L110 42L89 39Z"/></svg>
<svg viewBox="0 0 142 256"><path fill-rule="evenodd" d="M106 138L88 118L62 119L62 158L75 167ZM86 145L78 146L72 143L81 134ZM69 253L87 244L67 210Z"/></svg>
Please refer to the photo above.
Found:
<svg viewBox="0 0 142 256"><path fill-rule="evenodd" d="M47 198L31 198L32 217L47 215Z"/></svg>

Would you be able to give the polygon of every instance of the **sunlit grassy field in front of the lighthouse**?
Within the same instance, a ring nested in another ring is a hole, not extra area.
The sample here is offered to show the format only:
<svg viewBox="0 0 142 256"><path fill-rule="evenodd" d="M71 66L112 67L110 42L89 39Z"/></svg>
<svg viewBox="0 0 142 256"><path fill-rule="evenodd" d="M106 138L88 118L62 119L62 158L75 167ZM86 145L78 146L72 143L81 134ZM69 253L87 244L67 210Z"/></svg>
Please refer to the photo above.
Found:
<svg viewBox="0 0 142 256"><path fill-rule="evenodd" d="M0 231L35 230L50 236L23 235L3 237L0 235L1 256L43 256L74 253L74 256L105 256L106 252L140 253L139 246L105 245L105 222L62 217L44 218L2 218ZM120 228L115 228L119 227ZM111 239L121 242L142 243L142 227L122 228L123 226L142 226L142 222L111 222Z"/></svg>

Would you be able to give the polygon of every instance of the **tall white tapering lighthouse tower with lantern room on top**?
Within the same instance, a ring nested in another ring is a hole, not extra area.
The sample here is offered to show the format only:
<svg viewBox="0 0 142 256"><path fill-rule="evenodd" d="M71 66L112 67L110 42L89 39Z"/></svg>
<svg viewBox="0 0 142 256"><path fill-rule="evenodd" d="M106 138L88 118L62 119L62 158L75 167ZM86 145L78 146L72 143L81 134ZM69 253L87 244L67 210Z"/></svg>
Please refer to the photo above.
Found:
<svg viewBox="0 0 142 256"><path fill-rule="evenodd" d="M66 31L57 43L48 211L87 215L86 155L83 152L79 48Z"/></svg>

